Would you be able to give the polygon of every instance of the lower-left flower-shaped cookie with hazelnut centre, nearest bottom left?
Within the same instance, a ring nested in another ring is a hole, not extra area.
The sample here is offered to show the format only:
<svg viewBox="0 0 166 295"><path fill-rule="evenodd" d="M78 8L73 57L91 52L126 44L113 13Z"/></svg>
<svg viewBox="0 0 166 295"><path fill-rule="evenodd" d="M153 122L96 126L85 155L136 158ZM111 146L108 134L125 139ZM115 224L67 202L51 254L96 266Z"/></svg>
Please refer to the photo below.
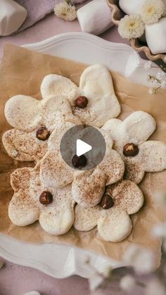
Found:
<svg viewBox="0 0 166 295"><path fill-rule="evenodd" d="M21 168L11 174L13 198L8 215L14 225L30 225L39 220L49 234L65 234L74 222L75 201L71 185L61 189L46 187L39 180L39 164Z"/></svg>

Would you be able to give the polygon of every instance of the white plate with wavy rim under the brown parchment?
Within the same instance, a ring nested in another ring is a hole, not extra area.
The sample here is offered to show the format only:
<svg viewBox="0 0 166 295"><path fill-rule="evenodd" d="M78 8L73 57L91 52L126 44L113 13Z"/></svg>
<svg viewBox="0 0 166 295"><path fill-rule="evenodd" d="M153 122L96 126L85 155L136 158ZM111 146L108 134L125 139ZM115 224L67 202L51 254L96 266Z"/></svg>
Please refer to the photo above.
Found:
<svg viewBox="0 0 166 295"><path fill-rule="evenodd" d="M126 44L107 42L86 33L67 33L39 43L27 44L24 47L83 63L103 63L110 70L116 70L134 82L148 85L147 73L143 69L145 61ZM89 277L93 272L85 263L89 257L91 265L98 270L102 270L106 265L115 268L124 265L105 256L99 256L98 253L84 251L73 246L53 243L28 244L4 234L0 234L0 256L13 263L36 268L57 278L70 275Z"/></svg>

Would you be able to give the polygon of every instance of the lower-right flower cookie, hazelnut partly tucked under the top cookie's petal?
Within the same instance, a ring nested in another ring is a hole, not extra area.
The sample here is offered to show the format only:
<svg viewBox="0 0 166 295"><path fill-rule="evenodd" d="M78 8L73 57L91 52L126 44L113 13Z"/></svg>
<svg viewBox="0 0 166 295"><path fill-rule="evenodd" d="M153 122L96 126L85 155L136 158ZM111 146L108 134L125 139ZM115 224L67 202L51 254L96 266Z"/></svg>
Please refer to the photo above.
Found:
<svg viewBox="0 0 166 295"><path fill-rule="evenodd" d="M98 227L99 235L106 241L122 241L132 231L129 215L143 206L143 194L130 180L110 185L99 206L75 206L76 230L89 231Z"/></svg>

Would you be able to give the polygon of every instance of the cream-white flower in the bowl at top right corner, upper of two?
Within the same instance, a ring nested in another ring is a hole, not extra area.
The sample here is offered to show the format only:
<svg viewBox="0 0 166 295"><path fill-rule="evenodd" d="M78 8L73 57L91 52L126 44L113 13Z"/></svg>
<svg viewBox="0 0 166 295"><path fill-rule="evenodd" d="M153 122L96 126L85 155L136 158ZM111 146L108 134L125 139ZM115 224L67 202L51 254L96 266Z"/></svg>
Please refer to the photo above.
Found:
<svg viewBox="0 0 166 295"><path fill-rule="evenodd" d="M146 0L141 7L141 18L144 23L158 23L165 12L165 4L162 0Z"/></svg>

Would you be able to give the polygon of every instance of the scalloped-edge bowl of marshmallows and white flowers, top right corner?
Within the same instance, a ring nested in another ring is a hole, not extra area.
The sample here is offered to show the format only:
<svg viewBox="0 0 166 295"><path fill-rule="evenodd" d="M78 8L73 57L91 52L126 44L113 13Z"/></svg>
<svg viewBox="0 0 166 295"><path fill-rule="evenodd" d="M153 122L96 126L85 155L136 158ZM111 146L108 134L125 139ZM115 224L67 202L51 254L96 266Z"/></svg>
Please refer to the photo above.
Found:
<svg viewBox="0 0 166 295"><path fill-rule="evenodd" d="M132 48L166 63L166 0L108 0L113 23Z"/></svg>

